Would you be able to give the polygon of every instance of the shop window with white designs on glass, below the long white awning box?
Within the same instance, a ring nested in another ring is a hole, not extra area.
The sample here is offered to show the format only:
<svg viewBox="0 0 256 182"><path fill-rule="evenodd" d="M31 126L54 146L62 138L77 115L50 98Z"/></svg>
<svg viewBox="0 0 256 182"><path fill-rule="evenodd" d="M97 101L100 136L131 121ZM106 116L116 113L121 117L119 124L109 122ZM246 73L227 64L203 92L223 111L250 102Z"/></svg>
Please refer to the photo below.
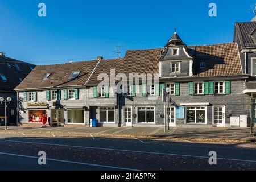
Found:
<svg viewBox="0 0 256 182"><path fill-rule="evenodd" d="M187 123L205 123L205 107L187 107Z"/></svg>

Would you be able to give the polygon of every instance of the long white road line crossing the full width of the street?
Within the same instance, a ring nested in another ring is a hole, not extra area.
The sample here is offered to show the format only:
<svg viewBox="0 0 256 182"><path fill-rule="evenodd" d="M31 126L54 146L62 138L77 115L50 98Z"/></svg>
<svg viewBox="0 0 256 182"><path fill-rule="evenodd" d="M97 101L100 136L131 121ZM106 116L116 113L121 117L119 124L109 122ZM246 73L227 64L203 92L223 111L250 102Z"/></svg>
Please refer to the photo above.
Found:
<svg viewBox="0 0 256 182"><path fill-rule="evenodd" d="M125 150L125 149L115 149L115 148L101 148L101 147L86 147L86 146L72 146L67 144L53 144L53 143L42 143L42 142L24 142L18 140L2 140L0 142L18 142L18 143L30 143L30 144L44 144L48 146L62 146L62 147L77 147L77 148L91 148L91 149L98 149L98 150L110 150L110 151L121 151L121 152L136 152L136 153L144 153L144 154L156 154L156 155L173 155L173 156L185 156L191 158L205 158L209 159L209 156L199 156L199 155L184 155L184 154L170 154L170 153L162 153L162 152L149 152L149 151L136 151L136 150ZM217 159L224 159L224 160L243 160L243 159L228 159L228 158L217 158ZM244 162L255 162L256 160L243 160Z"/></svg>

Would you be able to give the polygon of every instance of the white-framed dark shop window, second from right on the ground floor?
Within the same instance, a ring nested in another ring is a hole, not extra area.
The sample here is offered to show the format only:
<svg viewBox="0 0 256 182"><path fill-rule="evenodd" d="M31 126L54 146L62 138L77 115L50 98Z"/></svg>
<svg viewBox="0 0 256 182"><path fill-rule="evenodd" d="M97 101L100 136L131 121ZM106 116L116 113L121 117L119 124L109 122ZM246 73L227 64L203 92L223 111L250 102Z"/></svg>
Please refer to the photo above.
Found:
<svg viewBox="0 0 256 182"><path fill-rule="evenodd" d="M138 123L154 123L154 107L138 107Z"/></svg>

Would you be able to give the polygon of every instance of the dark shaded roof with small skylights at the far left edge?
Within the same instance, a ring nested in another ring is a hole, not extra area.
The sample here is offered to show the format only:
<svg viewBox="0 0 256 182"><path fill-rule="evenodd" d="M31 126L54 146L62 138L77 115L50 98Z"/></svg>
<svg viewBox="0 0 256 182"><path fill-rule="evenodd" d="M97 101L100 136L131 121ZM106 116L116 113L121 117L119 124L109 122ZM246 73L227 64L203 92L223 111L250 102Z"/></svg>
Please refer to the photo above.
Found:
<svg viewBox="0 0 256 182"><path fill-rule="evenodd" d="M20 70L16 69L15 64L19 66ZM0 79L0 92L15 92L14 88L20 84L19 78L23 80L31 72L30 67L34 68L35 65L11 59L10 57L0 56L0 74L5 75L7 78L7 81Z"/></svg>

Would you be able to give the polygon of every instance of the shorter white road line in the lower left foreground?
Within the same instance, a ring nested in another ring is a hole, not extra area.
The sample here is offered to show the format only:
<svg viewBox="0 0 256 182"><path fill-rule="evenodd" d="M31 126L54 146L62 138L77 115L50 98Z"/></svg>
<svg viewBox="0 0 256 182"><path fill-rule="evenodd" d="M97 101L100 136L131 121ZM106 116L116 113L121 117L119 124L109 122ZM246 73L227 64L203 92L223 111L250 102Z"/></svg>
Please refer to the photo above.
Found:
<svg viewBox="0 0 256 182"><path fill-rule="evenodd" d="M29 155L10 154L10 153L5 153L5 152L0 152L0 154L19 156L19 157L24 157L24 158L38 159L38 157L29 156ZM139 169L131 169L131 168L115 167L115 166L105 166L105 165L100 165L100 164L81 163L81 162L74 162L74 161L70 161L70 160L51 159L51 158L47 158L46 160L51 160L51 161L55 161L55 162L72 163L72 164L82 164L82 165L85 165L85 166L97 166L97 167L106 167L106 168L113 168L113 169L129 170L129 171L139 171Z"/></svg>

